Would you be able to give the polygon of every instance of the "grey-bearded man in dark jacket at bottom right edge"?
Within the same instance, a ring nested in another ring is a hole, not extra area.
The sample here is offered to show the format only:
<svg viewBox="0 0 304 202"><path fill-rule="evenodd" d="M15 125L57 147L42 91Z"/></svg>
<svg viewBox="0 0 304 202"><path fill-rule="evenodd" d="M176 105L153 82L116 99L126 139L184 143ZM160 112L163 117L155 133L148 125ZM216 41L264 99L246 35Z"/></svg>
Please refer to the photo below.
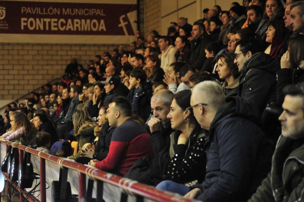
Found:
<svg viewBox="0 0 304 202"><path fill-rule="evenodd" d="M279 117L282 135L272 157L272 169L249 202L303 201L303 87L300 83L283 90L284 111Z"/></svg>

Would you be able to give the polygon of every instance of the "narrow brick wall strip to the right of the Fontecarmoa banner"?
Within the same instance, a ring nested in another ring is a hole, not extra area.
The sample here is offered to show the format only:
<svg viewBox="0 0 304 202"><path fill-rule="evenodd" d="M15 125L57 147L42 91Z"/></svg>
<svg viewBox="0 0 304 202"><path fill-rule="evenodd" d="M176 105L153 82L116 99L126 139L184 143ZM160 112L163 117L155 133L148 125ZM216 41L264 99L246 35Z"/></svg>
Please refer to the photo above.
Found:
<svg viewBox="0 0 304 202"><path fill-rule="evenodd" d="M145 36L153 29L161 31L161 0L145 1Z"/></svg>

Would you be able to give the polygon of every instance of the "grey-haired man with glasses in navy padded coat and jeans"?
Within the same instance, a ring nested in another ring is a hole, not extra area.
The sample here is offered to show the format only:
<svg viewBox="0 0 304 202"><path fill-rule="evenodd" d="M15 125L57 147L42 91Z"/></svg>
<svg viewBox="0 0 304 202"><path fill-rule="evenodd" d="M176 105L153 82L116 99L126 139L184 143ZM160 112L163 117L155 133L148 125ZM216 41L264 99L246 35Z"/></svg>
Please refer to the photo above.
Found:
<svg viewBox="0 0 304 202"><path fill-rule="evenodd" d="M214 81L195 85L190 104L208 131L205 180L192 187L171 182L167 190L201 201L247 201L271 168L271 145L257 125L259 118L242 98L225 101Z"/></svg>

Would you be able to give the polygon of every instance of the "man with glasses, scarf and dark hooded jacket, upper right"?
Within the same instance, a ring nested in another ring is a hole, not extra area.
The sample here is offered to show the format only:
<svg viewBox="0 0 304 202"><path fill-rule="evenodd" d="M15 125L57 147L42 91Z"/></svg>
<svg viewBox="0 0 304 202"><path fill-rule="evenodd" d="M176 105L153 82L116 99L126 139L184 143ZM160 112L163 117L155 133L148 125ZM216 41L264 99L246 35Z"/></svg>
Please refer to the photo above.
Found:
<svg viewBox="0 0 304 202"><path fill-rule="evenodd" d="M262 114L267 104L276 101L276 72L280 63L264 53L256 38L237 43L234 63L240 72L238 94Z"/></svg>

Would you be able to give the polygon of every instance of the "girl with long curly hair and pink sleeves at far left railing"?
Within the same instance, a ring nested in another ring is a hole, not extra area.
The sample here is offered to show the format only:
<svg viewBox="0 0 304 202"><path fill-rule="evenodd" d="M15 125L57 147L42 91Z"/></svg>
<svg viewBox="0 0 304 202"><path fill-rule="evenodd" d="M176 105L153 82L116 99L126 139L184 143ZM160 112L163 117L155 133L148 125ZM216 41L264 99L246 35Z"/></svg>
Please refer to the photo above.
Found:
<svg viewBox="0 0 304 202"><path fill-rule="evenodd" d="M37 130L26 115L22 112L14 111L9 118L11 120L12 130L3 134L1 138L12 142L15 141L28 147L35 146Z"/></svg>

